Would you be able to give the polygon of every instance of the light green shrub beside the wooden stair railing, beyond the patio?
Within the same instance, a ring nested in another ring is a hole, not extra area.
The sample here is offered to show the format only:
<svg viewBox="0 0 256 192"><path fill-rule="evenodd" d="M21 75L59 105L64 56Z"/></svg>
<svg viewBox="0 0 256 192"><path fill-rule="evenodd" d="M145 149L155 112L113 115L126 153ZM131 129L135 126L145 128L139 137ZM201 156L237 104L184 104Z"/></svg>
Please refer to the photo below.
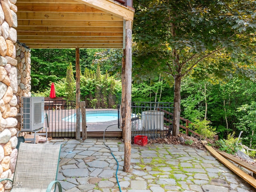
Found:
<svg viewBox="0 0 256 192"><path fill-rule="evenodd" d="M216 135L216 129L212 128L212 126L209 125L210 123L210 121L205 119L196 119L195 122L191 123L189 126L192 128L192 130L195 130L196 133L200 134L200 140L206 140L206 138L213 139L214 135Z"/></svg>

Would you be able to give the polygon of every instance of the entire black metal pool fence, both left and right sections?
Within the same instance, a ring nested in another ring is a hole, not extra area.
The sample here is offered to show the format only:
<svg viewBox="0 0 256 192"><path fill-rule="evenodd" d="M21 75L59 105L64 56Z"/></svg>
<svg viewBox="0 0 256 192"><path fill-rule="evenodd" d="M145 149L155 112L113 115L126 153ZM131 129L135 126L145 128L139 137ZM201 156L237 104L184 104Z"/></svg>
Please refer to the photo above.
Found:
<svg viewBox="0 0 256 192"><path fill-rule="evenodd" d="M132 102L132 137L144 135L149 139L155 139L170 135L173 109L174 105L170 102ZM75 138L75 101L45 100L44 110L48 136ZM120 120L121 117L118 119ZM118 125L120 126L121 124Z"/></svg>

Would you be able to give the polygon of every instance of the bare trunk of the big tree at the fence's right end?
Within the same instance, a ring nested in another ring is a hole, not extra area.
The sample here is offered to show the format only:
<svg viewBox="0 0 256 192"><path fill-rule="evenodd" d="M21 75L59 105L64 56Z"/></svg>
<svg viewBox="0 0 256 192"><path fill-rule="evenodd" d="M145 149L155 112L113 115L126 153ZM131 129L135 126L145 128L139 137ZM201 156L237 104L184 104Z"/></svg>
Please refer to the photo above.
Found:
<svg viewBox="0 0 256 192"><path fill-rule="evenodd" d="M181 76L174 76L174 112L173 112L173 130L172 136L178 136L180 132L180 88Z"/></svg>

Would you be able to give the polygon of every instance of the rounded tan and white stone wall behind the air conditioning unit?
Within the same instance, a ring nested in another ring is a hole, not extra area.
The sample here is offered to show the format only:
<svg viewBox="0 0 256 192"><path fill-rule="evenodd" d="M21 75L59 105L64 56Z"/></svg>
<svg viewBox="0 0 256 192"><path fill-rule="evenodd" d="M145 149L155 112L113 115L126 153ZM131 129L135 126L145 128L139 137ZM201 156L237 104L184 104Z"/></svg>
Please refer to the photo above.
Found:
<svg viewBox="0 0 256 192"><path fill-rule="evenodd" d="M12 178L21 96L30 96L30 52L17 42L16 0L0 0L0 178ZM10 191L0 183L0 192Z"/></svg>

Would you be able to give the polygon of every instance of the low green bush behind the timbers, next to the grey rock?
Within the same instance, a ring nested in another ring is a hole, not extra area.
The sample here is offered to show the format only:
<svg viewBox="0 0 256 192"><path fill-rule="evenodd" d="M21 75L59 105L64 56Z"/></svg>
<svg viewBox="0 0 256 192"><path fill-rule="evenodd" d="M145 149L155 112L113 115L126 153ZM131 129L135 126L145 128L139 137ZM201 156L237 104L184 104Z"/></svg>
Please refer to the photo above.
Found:
<svg viewBox="0 0 256 192"><path fill-rule="evenodd" d="M227 139L220 139L215 141L215 146L220 150L225 151L228 154L235 154L239 147L237 146L238 138L235 138L234 132L232 134L228 134Z"/></svg>

